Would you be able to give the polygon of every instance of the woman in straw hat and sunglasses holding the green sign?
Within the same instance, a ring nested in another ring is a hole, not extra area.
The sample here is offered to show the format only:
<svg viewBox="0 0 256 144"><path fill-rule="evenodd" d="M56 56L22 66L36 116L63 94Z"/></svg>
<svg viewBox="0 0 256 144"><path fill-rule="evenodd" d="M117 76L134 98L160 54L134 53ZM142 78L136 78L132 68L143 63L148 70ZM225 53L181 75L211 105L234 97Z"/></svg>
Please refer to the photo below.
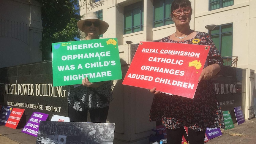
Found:
<svg viewBox="0 0 256 144"><path fill-rule="evenodd" d="M108 29L108 23L98 19L95 13L88 13L77 22L82 40L99 39L99 35ZM91 122L105 123L109 103L113 99L111 81L91 83L88 78L82 80L78 87L69 86L68 112L70 121L87 122L90 111Z"/></svg>

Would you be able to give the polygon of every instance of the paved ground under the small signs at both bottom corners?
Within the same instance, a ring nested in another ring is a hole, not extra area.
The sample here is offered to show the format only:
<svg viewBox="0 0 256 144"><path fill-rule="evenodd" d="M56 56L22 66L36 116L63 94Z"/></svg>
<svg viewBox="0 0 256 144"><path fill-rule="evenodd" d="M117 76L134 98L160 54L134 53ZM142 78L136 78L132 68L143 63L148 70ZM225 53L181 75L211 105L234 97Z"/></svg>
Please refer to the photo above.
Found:
<svg viewBox="0 0 256 144"><path fill-rule="evenodd" d="M256 118L247 120L235 128L223 131L222 136L215 137L206 144L248 144L256 141ZM35 144L36 137L21 132L22 129L12 129L0 126L1 144Z"/></svg>

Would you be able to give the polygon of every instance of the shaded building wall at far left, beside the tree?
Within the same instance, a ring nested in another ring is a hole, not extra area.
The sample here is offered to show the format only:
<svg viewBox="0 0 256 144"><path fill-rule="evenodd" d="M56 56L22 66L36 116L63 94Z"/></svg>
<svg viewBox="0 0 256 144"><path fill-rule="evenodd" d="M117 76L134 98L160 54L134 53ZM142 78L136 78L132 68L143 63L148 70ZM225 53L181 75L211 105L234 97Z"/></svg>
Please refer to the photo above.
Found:
<svg viewBox="0 0 256 144"><path fill-rule="evenodd" d="M0 68L42 61L41 5L35 0L0 0Z"/></svg>

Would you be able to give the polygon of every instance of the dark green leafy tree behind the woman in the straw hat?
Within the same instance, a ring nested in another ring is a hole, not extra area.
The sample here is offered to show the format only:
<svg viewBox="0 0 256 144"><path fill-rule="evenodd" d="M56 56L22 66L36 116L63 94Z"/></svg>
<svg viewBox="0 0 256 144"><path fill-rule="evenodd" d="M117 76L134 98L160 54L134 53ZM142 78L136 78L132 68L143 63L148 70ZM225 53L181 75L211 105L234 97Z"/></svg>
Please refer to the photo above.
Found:
<svg viewBox="0 0 256 144"><path fill-rule="evenodd" d="M42 3L42 59L51 59L51 43L74 41L80 20L78 0L37 0Z"/></svg>

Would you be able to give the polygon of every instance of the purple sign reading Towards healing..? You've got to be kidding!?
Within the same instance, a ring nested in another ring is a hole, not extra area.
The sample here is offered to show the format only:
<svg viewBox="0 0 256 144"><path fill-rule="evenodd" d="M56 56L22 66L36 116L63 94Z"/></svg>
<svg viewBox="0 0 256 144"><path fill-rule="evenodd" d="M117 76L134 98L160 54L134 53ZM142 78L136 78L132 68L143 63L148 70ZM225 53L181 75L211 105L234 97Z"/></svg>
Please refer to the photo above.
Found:
<svg viewBox="0 0 256 144"><path fill-rule="evenodd" d="M48 114L34 112L29 118L29 121L24 126L21 132L37 137L40 121L45 121L48 118Z"/></svg>

